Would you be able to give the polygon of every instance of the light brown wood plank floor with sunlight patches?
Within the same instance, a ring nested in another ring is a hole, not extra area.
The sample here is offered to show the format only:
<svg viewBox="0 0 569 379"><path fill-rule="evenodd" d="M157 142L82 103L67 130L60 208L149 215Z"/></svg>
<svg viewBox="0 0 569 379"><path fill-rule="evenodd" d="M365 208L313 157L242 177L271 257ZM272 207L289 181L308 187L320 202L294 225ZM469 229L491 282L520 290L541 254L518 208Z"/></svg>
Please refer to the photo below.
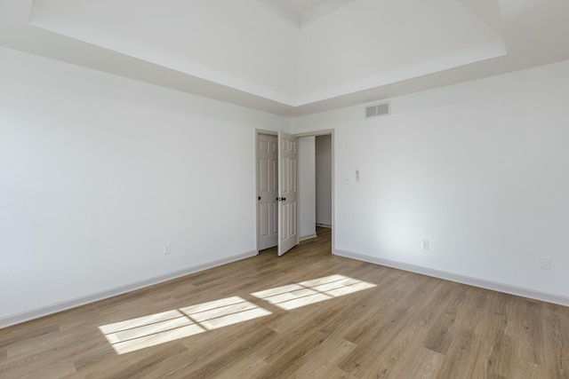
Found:
<svg viewBox="0 0 569 379"><path fill-rule="evenodd" d="M318 229L0 329L0 377L566 378L569 308L334 257Z"/></svg>

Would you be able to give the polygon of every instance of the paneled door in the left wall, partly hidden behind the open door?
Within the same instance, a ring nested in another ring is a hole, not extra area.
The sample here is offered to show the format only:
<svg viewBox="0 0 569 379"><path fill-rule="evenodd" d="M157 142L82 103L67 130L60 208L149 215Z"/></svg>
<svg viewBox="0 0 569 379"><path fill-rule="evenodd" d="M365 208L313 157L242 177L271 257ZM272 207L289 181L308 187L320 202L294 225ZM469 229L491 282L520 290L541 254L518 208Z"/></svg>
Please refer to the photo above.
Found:
<svg viewBox="0 0 569 379"><path fill-rule="evenodd" d="M259 249L278 243L278 142L276 136L257 137L257 219L259 220Z"/></svg>

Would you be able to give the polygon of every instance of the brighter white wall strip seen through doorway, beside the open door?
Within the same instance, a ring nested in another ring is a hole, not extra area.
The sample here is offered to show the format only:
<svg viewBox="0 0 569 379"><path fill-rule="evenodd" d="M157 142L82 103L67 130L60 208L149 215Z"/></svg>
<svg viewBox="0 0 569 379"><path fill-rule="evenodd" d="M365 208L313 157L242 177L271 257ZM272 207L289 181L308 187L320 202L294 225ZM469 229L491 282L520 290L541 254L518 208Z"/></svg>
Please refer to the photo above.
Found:
<svg viewBox="0 0 569 379"><path fill-rule="evenodd" d="M315 137L299 138L299 236L316 237L316 144Z"/></svg>

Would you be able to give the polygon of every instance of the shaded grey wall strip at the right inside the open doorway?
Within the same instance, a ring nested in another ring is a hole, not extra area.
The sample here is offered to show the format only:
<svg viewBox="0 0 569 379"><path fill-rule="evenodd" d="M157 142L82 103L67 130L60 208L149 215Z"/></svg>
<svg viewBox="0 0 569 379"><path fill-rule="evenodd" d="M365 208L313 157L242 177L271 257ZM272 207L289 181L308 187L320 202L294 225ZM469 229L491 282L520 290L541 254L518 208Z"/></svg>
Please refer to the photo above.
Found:
<svg viewBox="0 0 569 379"><path fill-rule="evenodd" d="M317 224L332 226L332 135L317 136Z"/></svg>

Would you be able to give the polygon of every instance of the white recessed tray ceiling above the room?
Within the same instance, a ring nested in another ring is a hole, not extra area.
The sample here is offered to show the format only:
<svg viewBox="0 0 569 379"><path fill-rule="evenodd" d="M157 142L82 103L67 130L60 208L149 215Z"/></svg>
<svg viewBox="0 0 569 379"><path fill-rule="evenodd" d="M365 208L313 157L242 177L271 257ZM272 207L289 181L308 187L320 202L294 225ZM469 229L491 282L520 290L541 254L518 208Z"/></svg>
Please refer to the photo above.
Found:
<svg viewBox="0 0 569 379"><path fill-rule="evenodd" d="M170 1L188 7L181 16L172 6L151 9L164 2L129 1L134 0L0 0L0 45L287 116L569 59L566 0ZM288 16L276 12L276 6ZM384 18L373 22L370 17L381 13L378 6L385 7ZM367 8L374 12L365 12ZM184 23L190 13L193 21ZM458 15L461 19L453 24ZM422 25L416 22L421 17ZM466 29L464 20L471 22ZM391 29L381 29L388 24ZM148 30L135 30L137 25ZM168 28L195 40L168 39L165 32L158 39ZM220 30L218 37L196 33L211 28ZM470 28L474 34L462 31ZM133 30L139 34L129 35ZM262 35L263 49L252 51L258 46L235 40L244 33ZM234 40L225 43L230 38ZM433 43L435 39L441 43ZM462 40L463 45L456 43ZM188 41L206 43L188 49ZM204 49L196 53L200 46ZM219 51L231 55L223 59ZM320 53L335 59L321 61ZM389 68L397 62L403 66ZM304 79L298 83L300 77Z"/></svg>

